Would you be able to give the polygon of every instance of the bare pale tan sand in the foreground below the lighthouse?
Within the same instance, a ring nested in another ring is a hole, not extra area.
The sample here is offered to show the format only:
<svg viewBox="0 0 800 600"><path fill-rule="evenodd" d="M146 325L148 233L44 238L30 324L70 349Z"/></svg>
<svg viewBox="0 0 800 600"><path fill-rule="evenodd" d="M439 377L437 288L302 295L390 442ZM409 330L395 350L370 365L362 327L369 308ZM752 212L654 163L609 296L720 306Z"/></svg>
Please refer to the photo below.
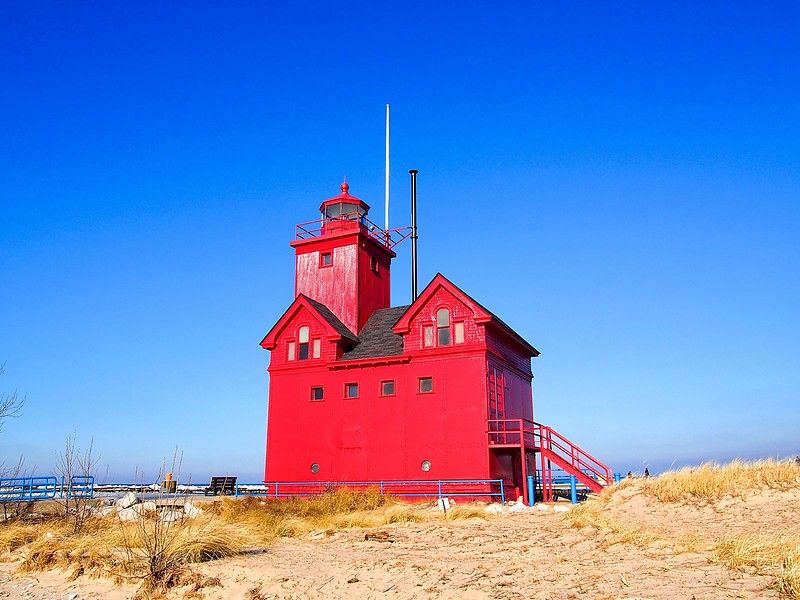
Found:
<svg viewBox="0 0 800 600"><path fill-rule="evenodd" d="M171 598L777 598L768 569L731 570L715 560L725 536L797 527L800 493L749 491L715 503L663 503L637 485L613 494L604 517L640 532L575 527L572 505L519 507L487 519L316 530L195 565L198 585ZM795 533L797 529L794 529ZM645 533L641 533L645 532ZM624 538L624 539L623 539ZM0 564L0 597L132 598L68 573L20 574L22 551Z"/></svg>

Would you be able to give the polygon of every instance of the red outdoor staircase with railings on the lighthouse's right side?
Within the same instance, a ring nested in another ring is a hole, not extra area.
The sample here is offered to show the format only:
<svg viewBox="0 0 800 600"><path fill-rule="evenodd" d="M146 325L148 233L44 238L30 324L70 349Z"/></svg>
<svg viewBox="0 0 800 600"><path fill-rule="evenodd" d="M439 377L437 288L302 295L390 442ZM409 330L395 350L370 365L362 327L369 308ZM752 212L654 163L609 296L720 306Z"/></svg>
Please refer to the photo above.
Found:
<svg viewBox="0 0 800 600"><path fill-rule="evenodd" d="M490 448L519 448L538 454L544 499L552 499L552 465L563 469L593 492L613 483L611 469L552 427L527 419L489 419Z"/></svg>

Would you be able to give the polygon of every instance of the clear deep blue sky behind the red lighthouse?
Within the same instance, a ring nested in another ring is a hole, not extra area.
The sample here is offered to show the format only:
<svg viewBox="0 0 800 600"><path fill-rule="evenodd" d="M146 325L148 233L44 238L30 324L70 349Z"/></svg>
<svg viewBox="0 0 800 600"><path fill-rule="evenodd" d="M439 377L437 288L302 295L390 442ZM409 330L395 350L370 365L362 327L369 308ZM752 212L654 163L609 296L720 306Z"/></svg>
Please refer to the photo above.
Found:
<svg viewBox="0 0 800 600"><path fill-rule="evenodd" d="M0 459L263 470L295 223L419 169L420 275L533 343L618 471L800 453L795 3L8 3ZM393 301L409 300L410 247Z"/></svg>

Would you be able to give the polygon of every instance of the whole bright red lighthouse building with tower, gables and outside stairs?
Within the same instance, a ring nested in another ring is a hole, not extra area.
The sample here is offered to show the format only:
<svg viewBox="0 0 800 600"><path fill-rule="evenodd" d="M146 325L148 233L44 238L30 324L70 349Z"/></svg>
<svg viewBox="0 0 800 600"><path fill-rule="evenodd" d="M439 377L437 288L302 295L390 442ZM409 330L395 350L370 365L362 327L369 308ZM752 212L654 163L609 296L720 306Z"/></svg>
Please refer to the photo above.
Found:
<svg viewBox="0 0 800 600"><path fill-rule="evenodd" d="M265 482L500 480L528 498L538 471L546 498L553 465L595 490L610 481L534 422L536 348L441 274L390 307L397 236L347 183L320 211L297 226L295 300L261 342Z"/></svg>

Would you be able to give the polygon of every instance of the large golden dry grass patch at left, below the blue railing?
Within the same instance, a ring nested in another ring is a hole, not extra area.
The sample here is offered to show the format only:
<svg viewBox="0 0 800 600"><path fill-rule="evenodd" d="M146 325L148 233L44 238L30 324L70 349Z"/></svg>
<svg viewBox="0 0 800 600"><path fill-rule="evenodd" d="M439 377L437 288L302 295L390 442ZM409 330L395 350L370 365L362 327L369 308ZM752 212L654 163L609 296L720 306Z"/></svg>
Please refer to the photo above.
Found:
<svg viewBox="0 0 800 600"><path fill-rule="evenodd" d="M458 505L444 515L421 505L402 504L377 490L337 489L318 497L265 500L223 498L196 519L168 522L151 511L135 522L106 516L88 519L79 532L64 520L6 522L0 550L22 552L20 572L62 569L81 575L138 582L140 598L192 585L196 593L213 585L188 565L225 558L254 544L301 537L315 530L376 527L432 519L484 517L480 505Z"/></svg>

